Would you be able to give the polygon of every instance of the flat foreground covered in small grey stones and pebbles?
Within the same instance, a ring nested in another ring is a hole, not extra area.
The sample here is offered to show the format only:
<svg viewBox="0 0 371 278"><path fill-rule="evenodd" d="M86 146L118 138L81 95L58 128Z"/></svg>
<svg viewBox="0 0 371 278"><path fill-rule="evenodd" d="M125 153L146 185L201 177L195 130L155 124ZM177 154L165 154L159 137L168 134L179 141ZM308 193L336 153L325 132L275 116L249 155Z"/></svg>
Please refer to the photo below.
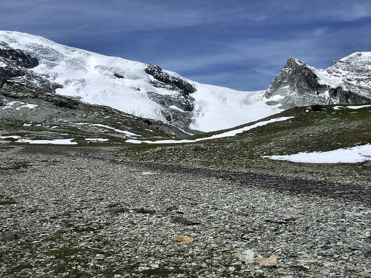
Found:
<svg viewBox="0 0 371 278"><path fill-rule="evenodd" d="M1 147L1 277L371 275L362 186L117 152Z"/></svg>

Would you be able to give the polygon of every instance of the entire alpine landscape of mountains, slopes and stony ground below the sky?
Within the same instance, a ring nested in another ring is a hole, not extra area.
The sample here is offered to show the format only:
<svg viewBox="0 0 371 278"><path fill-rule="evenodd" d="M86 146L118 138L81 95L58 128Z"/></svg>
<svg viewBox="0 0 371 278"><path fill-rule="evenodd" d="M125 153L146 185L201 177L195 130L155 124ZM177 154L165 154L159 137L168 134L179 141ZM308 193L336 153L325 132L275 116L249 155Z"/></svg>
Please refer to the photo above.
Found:
<svg viewBox="0 0 371 278"><path fill-rule="evenodd" d="M0 277L371 276L371 52L238 92L0 31L0 122Z"/></svg>

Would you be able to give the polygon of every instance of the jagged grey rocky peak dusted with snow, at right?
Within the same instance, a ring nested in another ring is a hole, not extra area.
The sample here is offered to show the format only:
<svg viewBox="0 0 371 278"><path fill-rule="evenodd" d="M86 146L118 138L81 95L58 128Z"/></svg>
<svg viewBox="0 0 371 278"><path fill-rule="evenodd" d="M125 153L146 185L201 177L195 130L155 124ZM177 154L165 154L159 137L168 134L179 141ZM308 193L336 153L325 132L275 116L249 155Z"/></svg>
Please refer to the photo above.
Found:
<svg viewBox="0 0 371 278"><path fill-rule="evenodd" d="M371 102L371 52L355 52L327 69L316 69L291 57L262 100L282 109Z"/></svg>

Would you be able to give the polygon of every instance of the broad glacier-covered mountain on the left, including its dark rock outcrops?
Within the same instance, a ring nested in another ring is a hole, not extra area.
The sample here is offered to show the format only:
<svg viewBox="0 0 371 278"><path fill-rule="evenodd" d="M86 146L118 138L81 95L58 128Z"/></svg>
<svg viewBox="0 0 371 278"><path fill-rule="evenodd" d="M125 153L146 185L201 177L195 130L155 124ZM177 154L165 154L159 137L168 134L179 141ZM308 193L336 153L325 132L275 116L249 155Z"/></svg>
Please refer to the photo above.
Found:
<svg viewBox="0 0 371 278"><path fill-rule="evenodd" d="M14 73L7 76L13 81L34 83L57 94L182 129L216 131L278 112L260 101L264 91L239 92L200 84L154 65L25 33L0 31L0 42L0 69Z"/></svg>

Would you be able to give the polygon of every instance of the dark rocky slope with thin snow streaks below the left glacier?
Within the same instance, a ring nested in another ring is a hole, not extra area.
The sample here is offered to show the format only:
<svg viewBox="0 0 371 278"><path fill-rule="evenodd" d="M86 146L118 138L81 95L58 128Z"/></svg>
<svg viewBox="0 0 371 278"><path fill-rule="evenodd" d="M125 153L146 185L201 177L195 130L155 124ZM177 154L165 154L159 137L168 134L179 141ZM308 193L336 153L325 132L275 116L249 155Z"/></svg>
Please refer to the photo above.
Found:
<svg viewBox="0 0 371 278"><path fill-rule="evenodd" d="M158 120L85 103L32 84L2 80L0 95L0 143L100 145L129 138L189 136Z"/></svg>

